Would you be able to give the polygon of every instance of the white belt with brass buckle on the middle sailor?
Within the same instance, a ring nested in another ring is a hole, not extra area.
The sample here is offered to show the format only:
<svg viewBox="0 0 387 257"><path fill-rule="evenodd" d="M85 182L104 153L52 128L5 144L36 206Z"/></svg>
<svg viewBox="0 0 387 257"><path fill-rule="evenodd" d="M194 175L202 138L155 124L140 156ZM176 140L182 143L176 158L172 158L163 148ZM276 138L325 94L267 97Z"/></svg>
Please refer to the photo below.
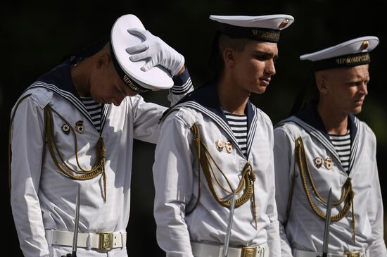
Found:
<svg viewBox="0 0 387 257"><path fill-rule="evenodd" d="M223 253L223 246L212 244L201 244L191 242L192 253L195 257L221 257ZM227 257L268 257L269 247L267 243L260 246L249 246L234 248L229 247Z"/></svg>

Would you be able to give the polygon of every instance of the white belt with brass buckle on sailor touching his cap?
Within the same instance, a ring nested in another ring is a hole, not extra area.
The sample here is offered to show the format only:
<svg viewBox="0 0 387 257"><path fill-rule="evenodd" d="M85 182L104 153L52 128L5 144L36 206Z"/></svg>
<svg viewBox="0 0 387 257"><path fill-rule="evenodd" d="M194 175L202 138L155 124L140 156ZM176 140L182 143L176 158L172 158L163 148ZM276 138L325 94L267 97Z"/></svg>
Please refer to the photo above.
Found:
<svg viewBox="0 0 387 257"><path fill-rule="evenodd" d="M60 244L72 246L72 231L46 230L46 240L49 246ZM77 247L96 249L98 251L110 251L114 248L126 247L127 232L78 232Z"/></svg>

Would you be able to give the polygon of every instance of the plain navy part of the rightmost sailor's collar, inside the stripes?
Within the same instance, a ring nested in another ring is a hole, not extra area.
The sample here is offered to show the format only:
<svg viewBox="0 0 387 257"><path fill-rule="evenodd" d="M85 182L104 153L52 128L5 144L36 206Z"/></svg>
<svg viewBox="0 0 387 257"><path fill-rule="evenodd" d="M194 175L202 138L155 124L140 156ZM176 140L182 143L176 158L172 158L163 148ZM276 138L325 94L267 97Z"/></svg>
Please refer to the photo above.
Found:
<svg viewBox="0 0 387 257"><path fill-rule="evenodd" d="M324 126L324 123L322 122L322 118L320 117L319 112L317 111L317 101L310 102L310 104L308 104L305 109L303 109L303 111L296 113L295 116L300 120L303 120L304 123L315 127L316 130L322 132L322 134L324 134L324 136L329 139L329 134L328 132L326 132L326 128ZM357 133L355 115L353 114L348 115L348 127L350 127L350 139L351 142L353 142Z"/></svg>

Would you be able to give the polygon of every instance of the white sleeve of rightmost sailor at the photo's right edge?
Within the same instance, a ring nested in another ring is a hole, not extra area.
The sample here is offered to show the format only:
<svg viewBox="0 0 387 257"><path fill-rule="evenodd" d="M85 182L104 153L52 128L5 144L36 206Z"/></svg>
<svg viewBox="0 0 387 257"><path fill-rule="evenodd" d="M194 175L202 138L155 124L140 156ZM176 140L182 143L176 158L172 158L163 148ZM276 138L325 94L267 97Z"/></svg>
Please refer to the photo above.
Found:
<svg viewBox="0 0 387 257"><path fill-rule="evenodd" d="M379 173L376 165L376 156L372 162L372 187L367 207L369 222L372 227L372 239L369 246L369 256L387 257L386 243L383 239L383 200L379 182Z"/></svg>

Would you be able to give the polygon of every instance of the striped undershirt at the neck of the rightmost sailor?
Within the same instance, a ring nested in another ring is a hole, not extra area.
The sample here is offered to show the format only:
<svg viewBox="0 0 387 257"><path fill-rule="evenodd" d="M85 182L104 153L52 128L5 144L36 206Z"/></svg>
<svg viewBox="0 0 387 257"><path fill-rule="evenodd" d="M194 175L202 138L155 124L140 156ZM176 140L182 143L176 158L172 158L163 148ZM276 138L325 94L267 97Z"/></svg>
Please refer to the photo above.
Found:
<svg viewBox="0 0 387 257"><path fill-rule="evenodd" d="M350 131L348 130L347 134L343 135L329 134L329 139L331 139L338 153L344 171L348 173L350 164Z"/></svg>

